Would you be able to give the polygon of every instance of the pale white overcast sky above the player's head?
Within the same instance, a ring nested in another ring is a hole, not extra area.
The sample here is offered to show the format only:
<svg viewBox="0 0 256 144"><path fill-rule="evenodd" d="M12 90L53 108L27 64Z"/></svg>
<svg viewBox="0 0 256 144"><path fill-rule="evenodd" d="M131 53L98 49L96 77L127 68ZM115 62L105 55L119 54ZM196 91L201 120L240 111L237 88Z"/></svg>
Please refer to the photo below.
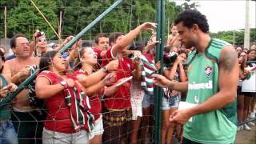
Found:
<svg viewBox="0 0 256 144"><path fill-rule="evenodd" d="M170 0L181 5L184 0ZM191 0L198 2L198 10L206 15L211 32L223 30L238 30L245 27L246 1L245 0ZM250 2L250 27L255 28L255 2Z"/></svg>

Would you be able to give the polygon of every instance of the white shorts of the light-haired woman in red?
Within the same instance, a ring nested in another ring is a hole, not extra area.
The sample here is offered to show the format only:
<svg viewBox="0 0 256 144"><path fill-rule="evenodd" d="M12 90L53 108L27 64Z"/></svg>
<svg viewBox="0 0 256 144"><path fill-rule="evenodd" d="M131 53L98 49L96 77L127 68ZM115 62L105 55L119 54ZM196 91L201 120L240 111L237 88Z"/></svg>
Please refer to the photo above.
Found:
<svg viewBox="0 0 256 144"><path fill-rule="evenodd" d="M96 135L103 134L103 132L104 132L104 129L103 129L102 114L101 114L98 120L95 121L94 130L89 133L89 139L94 138L94 136Z"/></svg>

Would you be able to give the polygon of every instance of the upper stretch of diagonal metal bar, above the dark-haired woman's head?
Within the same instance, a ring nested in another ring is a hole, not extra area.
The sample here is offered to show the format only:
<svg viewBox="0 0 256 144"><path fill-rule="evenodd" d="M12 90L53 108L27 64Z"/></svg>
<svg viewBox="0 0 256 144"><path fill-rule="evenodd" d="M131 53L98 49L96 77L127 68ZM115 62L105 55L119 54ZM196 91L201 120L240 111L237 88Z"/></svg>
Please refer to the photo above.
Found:
<svg viewBox="0 0 256 144"><path fill-rule="evenodd" d="M117 0L116 2L114 2L114 4L110 6L108 9L106 9L101 15L99 15L98 18L94 19L93 22L90 22L90 24L86 26L86 28L84 28L80 33L78 33L74 38L72 38L72 40L68 42L66 46L63 46L62 50L59 50L59 52L63 53L69 47L74 45L74 43L77 42L78 39L81 38L83 34L85 34L88 30L90 30L93 26L95 26L98 22L100 22L102 18L106 16L106 14L109 14L110 11L113 10L116 6L118 6L121 2L122 0Z"/></svg>

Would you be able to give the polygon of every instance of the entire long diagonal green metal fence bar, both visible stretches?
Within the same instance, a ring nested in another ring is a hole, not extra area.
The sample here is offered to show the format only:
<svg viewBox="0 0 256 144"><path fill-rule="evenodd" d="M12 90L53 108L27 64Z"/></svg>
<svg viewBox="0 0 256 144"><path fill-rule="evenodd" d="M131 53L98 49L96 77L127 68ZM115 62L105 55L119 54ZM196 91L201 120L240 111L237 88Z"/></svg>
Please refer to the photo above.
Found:
<svg viewBox="0 0 256 144"><path fill-rule="evenodd" d="M70 42L66 44L66 46L63 46L59 52L64 52L68 47L72 46L74 42L76 42L79 38L82 37L82 34L85 34L88 30L90 30L93 26L95 26L102 18L106 16L106 14L109 14L111 10L113 10L116 6L118 6L123 0L117 0L114 2L113 5L111 5L107 10L105 10L101 15L98 16L93 22L90 22L88 26L86 26L85 29L83 29L78 35L76 35ZM17 90L14 93L10 94L10 98L14 98L17 94L19 94L25 86L28 86L30 82L34 80L34 78L37 76L39 70L36 70L34 74L30 75L30 77L26 78L24 82L22 82Z"/></svg>

